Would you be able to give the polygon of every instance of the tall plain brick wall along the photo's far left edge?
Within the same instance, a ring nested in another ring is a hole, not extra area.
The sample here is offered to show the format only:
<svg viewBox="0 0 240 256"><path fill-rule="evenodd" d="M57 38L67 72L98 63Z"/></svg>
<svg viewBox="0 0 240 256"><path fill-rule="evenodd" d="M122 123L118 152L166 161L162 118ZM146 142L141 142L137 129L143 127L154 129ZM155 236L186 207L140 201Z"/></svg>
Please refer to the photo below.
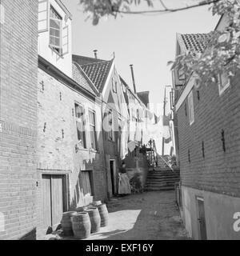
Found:
<svg viewBox="0 0 240 256"><path fill-rule="evenodd" d="M2 0L0 239L36 236L38 2Z"/></svg>

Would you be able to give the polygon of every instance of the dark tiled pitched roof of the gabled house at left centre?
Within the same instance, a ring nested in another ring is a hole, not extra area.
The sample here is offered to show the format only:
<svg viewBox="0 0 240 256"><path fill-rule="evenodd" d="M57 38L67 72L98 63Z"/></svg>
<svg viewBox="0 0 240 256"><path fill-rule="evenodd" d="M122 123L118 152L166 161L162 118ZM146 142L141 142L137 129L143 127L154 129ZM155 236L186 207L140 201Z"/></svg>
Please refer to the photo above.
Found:
<svg viewBox="0 0 240 256"><path fill-rule="evenodd" d="M94 86L102 92L114 59L105 61L97 58L73 55L73 60L81 66L82 70L88 78L90 78L90 81L93 82Z"/></svg>

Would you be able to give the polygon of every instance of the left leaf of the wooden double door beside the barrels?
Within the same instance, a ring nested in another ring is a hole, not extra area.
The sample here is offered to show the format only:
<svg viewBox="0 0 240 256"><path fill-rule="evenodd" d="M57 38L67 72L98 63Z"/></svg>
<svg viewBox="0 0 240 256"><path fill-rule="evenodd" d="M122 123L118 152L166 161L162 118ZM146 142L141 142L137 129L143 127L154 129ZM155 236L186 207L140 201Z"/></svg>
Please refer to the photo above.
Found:
<svg viewBox="0 0 240 256"><path fill-rule="evenodd" d="M52 226L51 207L51 176L42 175L42 210L45 230L50 229Z"/></svg>

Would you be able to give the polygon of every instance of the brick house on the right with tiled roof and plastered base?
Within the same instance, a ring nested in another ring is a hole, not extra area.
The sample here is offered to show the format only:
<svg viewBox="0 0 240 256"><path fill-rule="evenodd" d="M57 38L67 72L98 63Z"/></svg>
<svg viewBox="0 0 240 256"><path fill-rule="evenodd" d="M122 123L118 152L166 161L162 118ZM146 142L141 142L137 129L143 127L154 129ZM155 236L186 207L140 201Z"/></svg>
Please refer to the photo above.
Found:
<svg viewBox="0 0 240 256"><path fill-rule="evenodd" d="M216 30L227 25L223 16ZM177 54L206 49L199 38L210 34L178 34ZM195 86L174 70L174 121L181 170L181 214L194 239L239 239L239 72L218 82Z"/></svg>

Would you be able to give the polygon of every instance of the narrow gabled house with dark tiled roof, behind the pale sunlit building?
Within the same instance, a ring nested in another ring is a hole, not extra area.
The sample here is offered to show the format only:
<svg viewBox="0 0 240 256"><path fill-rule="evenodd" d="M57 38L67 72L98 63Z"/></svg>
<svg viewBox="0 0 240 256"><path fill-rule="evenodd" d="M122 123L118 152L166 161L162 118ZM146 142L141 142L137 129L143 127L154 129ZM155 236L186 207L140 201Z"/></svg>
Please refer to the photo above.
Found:
<svg viewBox="0 0 240 256"><path fill-rule="evenodd" d="M73 55L78 64L98 90L102 100L102 138L105 150L108 196L118 193L118 169L121 155L127 153L126 126L129 119L125 98L114 59L110 61ZM123 134L124 133L124 134Z"/></svg>

